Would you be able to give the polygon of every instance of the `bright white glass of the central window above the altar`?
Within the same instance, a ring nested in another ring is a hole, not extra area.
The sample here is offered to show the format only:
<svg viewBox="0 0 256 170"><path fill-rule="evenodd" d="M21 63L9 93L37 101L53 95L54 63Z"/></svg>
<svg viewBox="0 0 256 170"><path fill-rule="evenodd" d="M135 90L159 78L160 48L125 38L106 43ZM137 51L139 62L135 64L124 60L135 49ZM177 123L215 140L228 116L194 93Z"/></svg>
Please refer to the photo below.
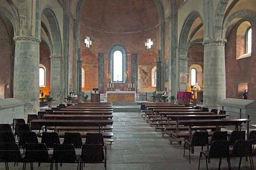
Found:
<svg viewBox="0 0 256 170"><path fill-rule="evenodd" d="M123 80L123 56L121 51L115 51L113 56L113 82Z"/></svg>

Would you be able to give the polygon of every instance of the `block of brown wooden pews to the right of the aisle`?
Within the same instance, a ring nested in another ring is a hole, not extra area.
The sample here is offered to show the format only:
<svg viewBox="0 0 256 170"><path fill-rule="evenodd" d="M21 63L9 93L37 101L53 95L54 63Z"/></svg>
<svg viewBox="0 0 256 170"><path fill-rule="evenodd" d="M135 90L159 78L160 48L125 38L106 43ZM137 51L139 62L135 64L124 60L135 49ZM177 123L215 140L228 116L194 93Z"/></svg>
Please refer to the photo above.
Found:
<svg viewBox="0 0 256 170"><path fill-rule="evenodd" d="M171 103L141 103L141 116L155 126L155 131L169 135L170 143L190 139L194 131L218 131L226 126L234 126L235 130L248 119L227 119L226 114L209 112L206 108L193 108ZM211 135L211 133L209 133Z"/></svg>

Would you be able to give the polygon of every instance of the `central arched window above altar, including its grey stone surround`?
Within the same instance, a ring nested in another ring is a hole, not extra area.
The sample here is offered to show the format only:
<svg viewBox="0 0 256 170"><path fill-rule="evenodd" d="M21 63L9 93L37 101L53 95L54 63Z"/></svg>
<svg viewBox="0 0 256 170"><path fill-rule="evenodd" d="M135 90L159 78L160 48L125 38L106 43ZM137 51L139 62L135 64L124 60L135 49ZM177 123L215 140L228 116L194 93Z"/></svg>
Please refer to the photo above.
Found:
<svg viewBox="0 0 256 170"><path fill-rule="evenodd" d="M123 46L115 45L109 53L109 76L111 83L125 83L127 72L127 53Z"/></svg>

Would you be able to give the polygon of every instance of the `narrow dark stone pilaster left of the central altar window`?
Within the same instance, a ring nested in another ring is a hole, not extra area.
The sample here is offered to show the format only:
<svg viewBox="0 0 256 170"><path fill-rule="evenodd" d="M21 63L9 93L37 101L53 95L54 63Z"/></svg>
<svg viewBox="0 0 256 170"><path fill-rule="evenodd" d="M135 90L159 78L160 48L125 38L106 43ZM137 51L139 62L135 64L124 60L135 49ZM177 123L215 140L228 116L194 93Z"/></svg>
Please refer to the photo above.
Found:
<svg viewBox="0 0 256 170"><path fill-rule="evenodd" d="M98 53L98 75L99 75L99 92L103 92L103 79L104 79L104 54L102 52Z"/></svg>

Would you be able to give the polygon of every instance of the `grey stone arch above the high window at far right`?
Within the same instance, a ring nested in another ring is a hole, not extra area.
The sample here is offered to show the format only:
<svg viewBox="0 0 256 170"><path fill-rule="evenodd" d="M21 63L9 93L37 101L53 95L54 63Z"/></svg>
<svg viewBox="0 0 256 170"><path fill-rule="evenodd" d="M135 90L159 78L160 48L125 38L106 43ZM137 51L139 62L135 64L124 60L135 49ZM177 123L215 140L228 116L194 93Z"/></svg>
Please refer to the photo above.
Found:
<svg viewBox="0 0 256 170"><path fill-rule="evenodd" d="M239 10L225 20L222 38L225 38L227 36L227 28L229 27L230 23L236 18L242 18L243 20L247 20L254 24L256 23L256 13L253 10Z"/></svg>

